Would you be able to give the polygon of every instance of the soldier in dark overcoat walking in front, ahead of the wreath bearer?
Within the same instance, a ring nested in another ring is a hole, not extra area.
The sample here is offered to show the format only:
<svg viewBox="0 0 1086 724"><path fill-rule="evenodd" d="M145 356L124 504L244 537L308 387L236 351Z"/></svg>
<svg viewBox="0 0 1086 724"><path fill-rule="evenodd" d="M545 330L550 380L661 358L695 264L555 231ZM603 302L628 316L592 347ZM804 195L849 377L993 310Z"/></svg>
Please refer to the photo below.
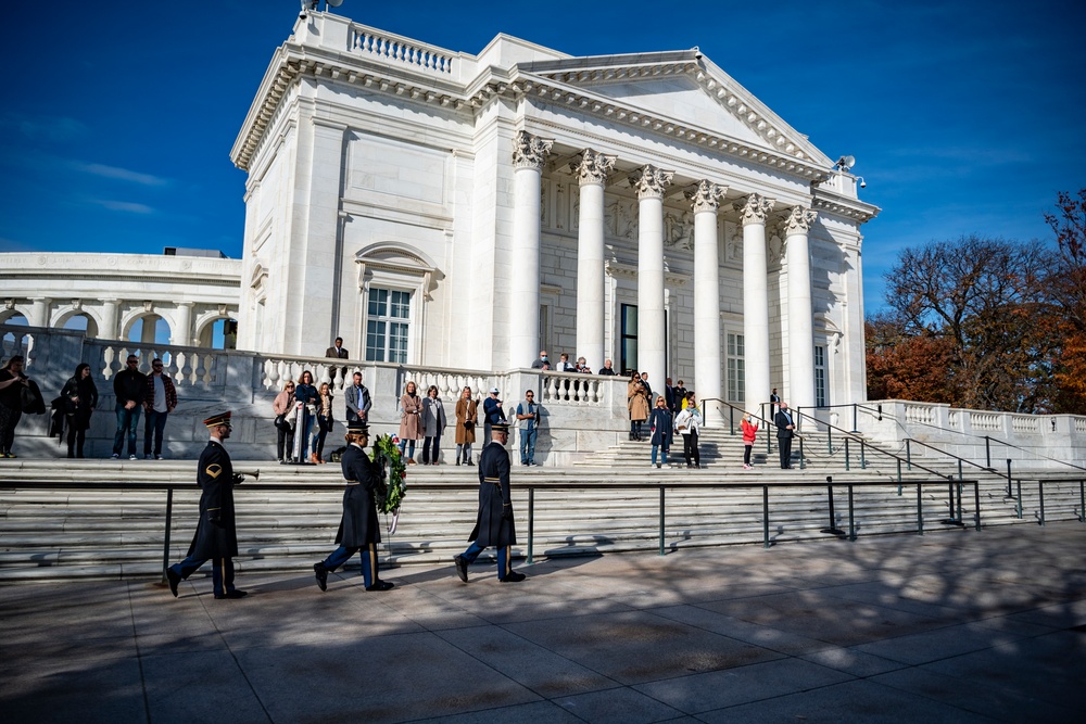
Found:
<svg viewBox="0 0 1086 724"><path fill-rule="evenodd" d="M507 422L495 422L491 427L493 439L479 456L479 518L475 530L468 536L473 543L453 560L460 581L468 582L468 566L487 547L497 548L497 580L517 583L525 580L523 573L513 570L512 546L517 542L517 529L513 523L513 499L509 491L509 454L505 443L509 440Z"/></svg>

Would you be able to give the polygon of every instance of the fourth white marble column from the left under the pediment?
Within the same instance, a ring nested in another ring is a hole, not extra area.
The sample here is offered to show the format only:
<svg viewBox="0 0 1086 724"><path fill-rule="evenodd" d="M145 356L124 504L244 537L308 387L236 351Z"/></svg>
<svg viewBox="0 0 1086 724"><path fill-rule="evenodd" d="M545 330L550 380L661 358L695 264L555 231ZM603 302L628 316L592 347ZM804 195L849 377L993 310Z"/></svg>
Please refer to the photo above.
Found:
<svg viewBox="0 0 1086 724"><path fill-rule="evenodd" d="M720 259L717 208L727 188L707 180L687 191L694 211L694 392L705 405L707 427L721 421Z"/></svg>

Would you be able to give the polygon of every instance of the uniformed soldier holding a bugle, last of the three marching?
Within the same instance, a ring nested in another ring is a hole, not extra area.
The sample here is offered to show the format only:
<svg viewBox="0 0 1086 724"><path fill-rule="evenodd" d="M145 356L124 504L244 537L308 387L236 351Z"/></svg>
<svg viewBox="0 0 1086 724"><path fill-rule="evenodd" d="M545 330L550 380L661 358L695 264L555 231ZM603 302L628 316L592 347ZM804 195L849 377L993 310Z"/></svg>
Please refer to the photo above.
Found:
<svg viewBox="0 0 1086 724"><path fill-rule="evenodd" d="M200 495L200 522L189 546L188 558L166 569L169 593L177 597L177 584L198 568L212 561L215 598L242 598L244 590L233 587L233 557L238 555L238 529L233 520L233 486L244 475L233 472L230 454L223 442L230 436L230 412L204 420L211 431L207 447L200 454L197 485Z"/></svg>

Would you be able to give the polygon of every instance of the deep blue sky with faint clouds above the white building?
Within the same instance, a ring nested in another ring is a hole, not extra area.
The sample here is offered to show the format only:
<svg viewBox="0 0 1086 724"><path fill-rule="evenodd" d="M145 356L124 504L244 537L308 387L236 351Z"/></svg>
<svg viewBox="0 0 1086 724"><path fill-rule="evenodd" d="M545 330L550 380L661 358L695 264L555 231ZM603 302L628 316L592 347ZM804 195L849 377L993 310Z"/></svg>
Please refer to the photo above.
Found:
<svg viewBox="0 0 1086 724"><path fill-rule="evenodd" d="M323 3L321 3L323 4ZM497 8L495 10L495 8ZM240 256L229 151L296 0L5 5L0 251ZM506 33L570 54L698 46L828 155L856 156L866 306L900 250L978 233L1049 242L1086 187L1086 3L374 3L359 23L479 52Z"/></svg>

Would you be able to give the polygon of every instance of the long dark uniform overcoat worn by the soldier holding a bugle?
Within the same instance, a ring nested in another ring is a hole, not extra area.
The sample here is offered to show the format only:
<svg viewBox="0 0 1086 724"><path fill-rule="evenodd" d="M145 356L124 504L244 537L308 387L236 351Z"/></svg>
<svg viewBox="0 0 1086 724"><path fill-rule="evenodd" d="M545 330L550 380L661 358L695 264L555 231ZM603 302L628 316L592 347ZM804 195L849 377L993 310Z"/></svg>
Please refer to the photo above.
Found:
<svg viewBox="0 0 1086 724"><path fill-rule="evenodd" d="M233 520L233 465L223 444L210 441L197 465L200 522L189 555L200 558L232 558L238 555L238 528Z"/></svg>

